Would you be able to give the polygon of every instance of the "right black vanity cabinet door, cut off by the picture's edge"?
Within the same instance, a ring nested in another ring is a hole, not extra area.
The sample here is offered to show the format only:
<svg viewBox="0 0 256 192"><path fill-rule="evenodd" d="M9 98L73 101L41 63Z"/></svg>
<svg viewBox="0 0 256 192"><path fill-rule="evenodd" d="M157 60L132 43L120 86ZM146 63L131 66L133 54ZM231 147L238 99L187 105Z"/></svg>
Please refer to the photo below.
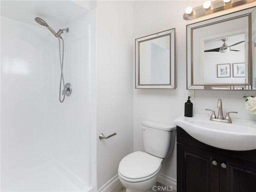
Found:
<svg viewBox="0 0 256 192"><path fill-rule="evenodd" d="M221 158L220 192L256 192L256 163L229 156Z"/></svg>

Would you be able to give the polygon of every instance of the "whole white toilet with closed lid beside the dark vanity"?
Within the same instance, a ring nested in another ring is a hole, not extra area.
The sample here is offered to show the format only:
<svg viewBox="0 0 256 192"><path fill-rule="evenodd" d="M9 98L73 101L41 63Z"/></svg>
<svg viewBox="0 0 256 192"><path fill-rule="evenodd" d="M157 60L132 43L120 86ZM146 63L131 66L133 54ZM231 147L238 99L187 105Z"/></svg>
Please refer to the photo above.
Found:
<svg viewBox="0 0 256 192"><path fill-rule="evenodd" d="M162 161L172 154L176 126L151 120L142 121L145 152L125 156L118 166L119 180L126 192L145 192L158 179Z"/></svg>

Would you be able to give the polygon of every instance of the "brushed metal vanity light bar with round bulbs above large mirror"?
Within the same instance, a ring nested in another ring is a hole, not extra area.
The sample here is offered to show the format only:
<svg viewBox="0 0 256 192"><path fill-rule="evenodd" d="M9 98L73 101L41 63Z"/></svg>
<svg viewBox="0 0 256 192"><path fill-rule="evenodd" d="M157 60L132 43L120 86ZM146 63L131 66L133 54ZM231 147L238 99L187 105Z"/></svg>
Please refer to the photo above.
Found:
<svg viewBox="0 0 256 192"><path fill-rule="evenodd" d="M216 0L213 2L206 1L202 6L198 6L195 8L186 8L183 18L184 20L192 20L212 13L216 13L218 11L227 10L236 6L252 2L255 2L255 0Z"/></svg>

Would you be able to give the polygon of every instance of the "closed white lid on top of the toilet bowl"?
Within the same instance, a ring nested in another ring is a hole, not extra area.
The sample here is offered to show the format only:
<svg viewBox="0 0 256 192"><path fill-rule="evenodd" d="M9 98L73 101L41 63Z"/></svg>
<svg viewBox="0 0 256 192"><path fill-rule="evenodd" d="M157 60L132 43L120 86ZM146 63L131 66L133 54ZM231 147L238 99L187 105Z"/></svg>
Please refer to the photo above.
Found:
<svg viewBox="0 0 256 192"><path fill-rule="evenodd" d="M125 156L118 167L118 172L130 179L139 179L154 174L161 166L161 158L145 152L136 151Z"/></svg>

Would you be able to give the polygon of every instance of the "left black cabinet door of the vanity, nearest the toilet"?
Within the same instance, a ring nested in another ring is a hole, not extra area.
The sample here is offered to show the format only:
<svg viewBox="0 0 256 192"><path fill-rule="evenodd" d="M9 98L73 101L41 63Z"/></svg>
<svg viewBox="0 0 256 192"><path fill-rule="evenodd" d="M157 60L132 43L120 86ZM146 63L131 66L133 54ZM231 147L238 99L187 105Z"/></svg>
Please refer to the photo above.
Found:
<svg viewBox="0 0 256 192"><path fill-rule="evenodd" d="M177 191L219 192L218 155L177 144Z"/></svg>

